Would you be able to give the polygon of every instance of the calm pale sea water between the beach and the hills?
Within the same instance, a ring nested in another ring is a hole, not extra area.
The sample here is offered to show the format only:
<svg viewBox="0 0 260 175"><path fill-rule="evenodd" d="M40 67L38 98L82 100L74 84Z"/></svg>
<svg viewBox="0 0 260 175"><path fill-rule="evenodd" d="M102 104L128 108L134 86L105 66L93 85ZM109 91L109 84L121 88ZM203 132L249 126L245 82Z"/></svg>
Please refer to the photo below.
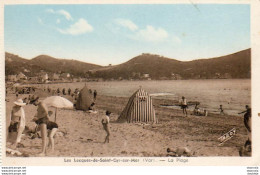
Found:
<svg viewBox="0 0 260 175"><path fill-rule="evenodd" d="M82 88L85 83L45 85L52 88ZM200 108L210 112L217 111L219 105L224 112L237 115L251 105L250 79L212 79L212 80L162 80L162 81L105 81L87 82L89 88L96 89L99 95L130 97L138 88L145 89L153 98L199 101ZM193 107L192 107L193 108Z"/></svg>

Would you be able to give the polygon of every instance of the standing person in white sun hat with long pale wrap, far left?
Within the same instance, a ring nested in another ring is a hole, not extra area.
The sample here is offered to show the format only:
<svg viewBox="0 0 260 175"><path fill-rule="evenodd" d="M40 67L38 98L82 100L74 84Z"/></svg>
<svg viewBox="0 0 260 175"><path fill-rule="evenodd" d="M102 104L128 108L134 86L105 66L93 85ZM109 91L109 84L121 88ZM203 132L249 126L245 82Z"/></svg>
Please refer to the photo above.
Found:
<svg viewBox="0 0 260 175"><path fill-rule="evenodd" d="M12 108L7 138L12 142L12 147L16 149L21 142L22 133L25 129L25 112L23 106L25 106L26 103L23 103L22 99L18 99L14 104L15 106Z"/></svg>

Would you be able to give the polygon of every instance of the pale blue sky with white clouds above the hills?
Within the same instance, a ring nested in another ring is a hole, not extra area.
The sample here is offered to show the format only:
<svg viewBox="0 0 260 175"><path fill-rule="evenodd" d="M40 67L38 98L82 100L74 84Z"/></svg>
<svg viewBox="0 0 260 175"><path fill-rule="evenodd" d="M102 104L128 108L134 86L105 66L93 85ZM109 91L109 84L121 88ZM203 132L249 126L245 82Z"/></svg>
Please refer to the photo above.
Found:
<svg viewBox="0 0 260 175"><path fill-rule="evenodd" d="M5 5L6 52L106 66L142 53L180 61L250 48L248 4Z"/></svg>

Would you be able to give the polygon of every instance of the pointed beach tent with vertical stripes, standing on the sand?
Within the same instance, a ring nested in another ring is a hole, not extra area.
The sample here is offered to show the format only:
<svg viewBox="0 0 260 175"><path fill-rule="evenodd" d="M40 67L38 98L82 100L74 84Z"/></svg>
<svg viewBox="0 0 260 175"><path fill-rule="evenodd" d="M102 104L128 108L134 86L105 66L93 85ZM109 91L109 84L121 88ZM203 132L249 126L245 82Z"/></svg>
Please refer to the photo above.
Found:
<svg viewBox="0 0 260 175"><path fill-rule="evenodd" d="M157 123L151 96L142 88L129 99L118 121Z"/></svg>

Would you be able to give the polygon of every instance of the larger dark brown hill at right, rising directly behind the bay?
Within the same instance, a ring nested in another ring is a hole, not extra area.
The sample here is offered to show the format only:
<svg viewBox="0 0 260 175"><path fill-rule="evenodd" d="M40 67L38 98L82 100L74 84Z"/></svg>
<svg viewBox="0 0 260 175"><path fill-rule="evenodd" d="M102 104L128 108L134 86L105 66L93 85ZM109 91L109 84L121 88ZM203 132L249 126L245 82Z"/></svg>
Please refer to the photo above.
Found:
<svg viewBox="0 0 260 175"><path fill-rule="evenodd" d="M251 49L186 62L142 54L123 64L97 69L90 74L104 79L143 79L148 76L151 79L250 78Z"/></svg>

